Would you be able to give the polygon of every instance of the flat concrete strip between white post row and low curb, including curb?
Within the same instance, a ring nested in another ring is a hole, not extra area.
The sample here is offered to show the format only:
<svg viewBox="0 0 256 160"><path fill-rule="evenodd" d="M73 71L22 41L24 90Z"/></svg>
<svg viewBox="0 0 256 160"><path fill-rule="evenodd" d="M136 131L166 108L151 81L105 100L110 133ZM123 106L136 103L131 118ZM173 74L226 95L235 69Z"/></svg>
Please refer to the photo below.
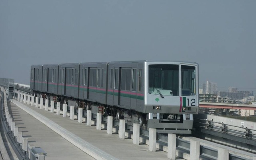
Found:
<svg viewBox="0 0 256 160"><path fill-rule="evenodd" d="M86 126L85 123L78 123L76 120L70 120L69 117L63 118L62 116L57 116L56 114L51 114L45 110L25 105L16 100L12 101L32 116L34 115L35 118L40 117L37 119L47 126L50 124L52 126L51 129L54 131L56 130L55 132L62 135L62 137L67 138L68 141L74 141L74 145L78 146L78 148L90 147L91 149L84 149L84 151L94 152L92 154L98 153L100 156L96 155L96 157L99 159L168 159L166 152L160 150L158 150L158 152L150 152L148 146L145 144L132 144L132 139L126 138L125 140L121 140L118 138L118 134L110 135L106 133L106 130L98 131L94 126ZM54 122L49 122L48 124L48 118L54 120ZM62 130L61 128L66 129ZM106 156L108 157L106 158ZM176 157L176 159L180 158Z"/></svg>

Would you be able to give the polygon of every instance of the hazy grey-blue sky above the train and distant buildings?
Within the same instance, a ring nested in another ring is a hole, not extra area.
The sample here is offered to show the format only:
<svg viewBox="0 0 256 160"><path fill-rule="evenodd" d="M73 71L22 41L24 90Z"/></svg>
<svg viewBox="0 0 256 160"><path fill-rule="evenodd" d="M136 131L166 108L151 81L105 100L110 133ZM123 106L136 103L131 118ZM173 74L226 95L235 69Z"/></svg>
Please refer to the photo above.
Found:
<svg viewBox="0 0 256 160"><path fill-rule="evenodd" d="M200 85L256 91L256 0L0 0L0 77L32 64L197 62Z"/></svg>

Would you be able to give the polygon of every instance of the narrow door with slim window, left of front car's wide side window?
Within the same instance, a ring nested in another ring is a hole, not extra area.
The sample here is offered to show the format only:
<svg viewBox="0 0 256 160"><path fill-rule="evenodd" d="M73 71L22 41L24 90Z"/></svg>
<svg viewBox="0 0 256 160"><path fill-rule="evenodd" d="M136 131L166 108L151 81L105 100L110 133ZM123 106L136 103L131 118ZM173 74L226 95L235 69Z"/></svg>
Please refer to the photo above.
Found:
<svg viewBox="0 0 256 160"><path fill-rule="evenodd" d="M118 106L120 104L120 69L114 68L114 98L113 105Z"/></svg>

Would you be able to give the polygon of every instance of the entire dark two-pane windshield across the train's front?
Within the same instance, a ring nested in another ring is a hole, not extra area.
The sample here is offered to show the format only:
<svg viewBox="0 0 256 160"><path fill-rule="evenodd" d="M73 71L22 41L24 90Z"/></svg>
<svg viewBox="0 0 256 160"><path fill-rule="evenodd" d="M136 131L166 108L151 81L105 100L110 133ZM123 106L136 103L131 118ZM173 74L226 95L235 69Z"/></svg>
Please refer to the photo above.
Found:
<svg viewBox="0 0 256 160"><path fill-rule="evenodd" d="M181 65L181 96L196 95L196 67ZM148 93L180 96L179 65L150 64L148 66Z"/></svg>

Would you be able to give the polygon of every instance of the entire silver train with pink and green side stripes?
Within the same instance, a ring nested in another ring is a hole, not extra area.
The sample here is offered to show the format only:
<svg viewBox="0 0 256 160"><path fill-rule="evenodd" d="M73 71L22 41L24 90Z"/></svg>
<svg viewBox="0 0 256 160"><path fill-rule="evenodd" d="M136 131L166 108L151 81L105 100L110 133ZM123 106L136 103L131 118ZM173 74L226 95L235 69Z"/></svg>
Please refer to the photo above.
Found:
<svg viewBox="0 0 256 160"><path fill-rule="evenodd" d="M198 114L198 64L120 61L32 65L34 96L91 110L158 133L191 134Z"/></svg>

